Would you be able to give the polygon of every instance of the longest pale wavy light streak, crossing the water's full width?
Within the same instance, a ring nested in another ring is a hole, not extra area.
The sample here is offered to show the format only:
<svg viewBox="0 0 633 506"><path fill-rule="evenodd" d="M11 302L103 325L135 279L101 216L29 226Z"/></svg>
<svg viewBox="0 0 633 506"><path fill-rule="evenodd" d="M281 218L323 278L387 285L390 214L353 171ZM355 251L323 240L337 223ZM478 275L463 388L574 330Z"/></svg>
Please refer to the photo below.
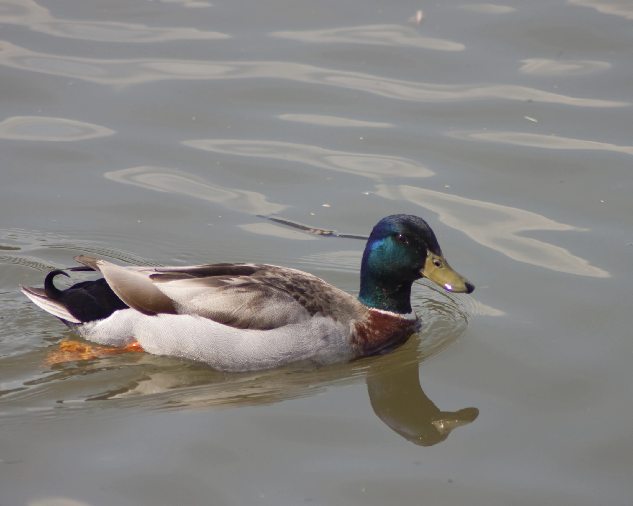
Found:
<svg viewBox="0 0 633 506"><path fill-rule="evenodd" d="M0 41L0 65L116 87L168 79L273 78L329 85L390 99L416 102L457 102L501 98L580 107L623 107L630 105L630 102L568 97L527 86L421 83L284 61L97 59L57 56L30 51L7 41Z"/></svg>

